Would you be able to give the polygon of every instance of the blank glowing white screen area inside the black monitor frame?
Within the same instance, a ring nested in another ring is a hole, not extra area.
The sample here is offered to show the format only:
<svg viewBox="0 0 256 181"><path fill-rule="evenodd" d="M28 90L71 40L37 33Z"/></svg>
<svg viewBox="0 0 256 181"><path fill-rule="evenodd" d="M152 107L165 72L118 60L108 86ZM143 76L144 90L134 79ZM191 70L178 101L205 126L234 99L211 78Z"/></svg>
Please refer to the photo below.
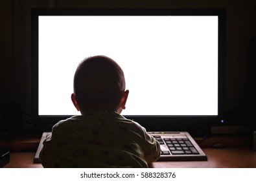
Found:
<svg viewBox="0 0 256 181"><path fill-rule="evenodd" d="M73 115L73 75L105 55L124 70L124 115L218 114L217 16L40 16L39 114Z"/></svg>

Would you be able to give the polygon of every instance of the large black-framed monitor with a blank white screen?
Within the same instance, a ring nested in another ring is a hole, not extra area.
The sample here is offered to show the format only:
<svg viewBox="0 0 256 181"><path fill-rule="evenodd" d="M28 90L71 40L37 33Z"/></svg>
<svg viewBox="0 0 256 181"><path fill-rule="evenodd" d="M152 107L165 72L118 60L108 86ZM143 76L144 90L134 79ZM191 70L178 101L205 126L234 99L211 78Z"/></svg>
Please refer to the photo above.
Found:
<svg viewBox="0 0 256 181"><path fill-rule="evenodd" d="M224 9L32 9L32 120L80 114L71 101L84 58L104 55L130 91L122 115L147 131L207 134L225 125Z"/></svg>

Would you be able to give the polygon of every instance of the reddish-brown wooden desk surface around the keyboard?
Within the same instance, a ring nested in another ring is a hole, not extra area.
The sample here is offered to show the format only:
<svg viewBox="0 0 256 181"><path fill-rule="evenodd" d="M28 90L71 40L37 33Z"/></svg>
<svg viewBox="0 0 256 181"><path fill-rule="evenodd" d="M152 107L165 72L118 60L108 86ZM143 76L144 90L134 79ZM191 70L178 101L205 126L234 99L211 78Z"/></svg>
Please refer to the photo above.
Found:
<svg viewBox="0 0 256 181"><path fill-rule="evenodd" d="M256 151L251 147L204 148L208 161L172 161L154 162L150 167L160 168L248 168L256 167ZM5 168L41 168L41 164L33 164L34 152L12 152L10 162Z"/></svg>

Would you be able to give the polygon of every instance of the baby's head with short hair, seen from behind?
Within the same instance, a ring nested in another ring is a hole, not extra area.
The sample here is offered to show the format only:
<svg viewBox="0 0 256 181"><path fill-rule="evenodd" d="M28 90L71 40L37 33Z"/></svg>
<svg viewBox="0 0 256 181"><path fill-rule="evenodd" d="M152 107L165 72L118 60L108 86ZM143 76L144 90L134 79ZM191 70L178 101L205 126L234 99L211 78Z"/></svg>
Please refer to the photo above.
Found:
<svg viewBox="0 0 256 181"><path fill-rule="evenodd" d="M121 67L106 56L93 56L78 65L71 100L82 114L91 111L121 113L128 92Z"/></svg>

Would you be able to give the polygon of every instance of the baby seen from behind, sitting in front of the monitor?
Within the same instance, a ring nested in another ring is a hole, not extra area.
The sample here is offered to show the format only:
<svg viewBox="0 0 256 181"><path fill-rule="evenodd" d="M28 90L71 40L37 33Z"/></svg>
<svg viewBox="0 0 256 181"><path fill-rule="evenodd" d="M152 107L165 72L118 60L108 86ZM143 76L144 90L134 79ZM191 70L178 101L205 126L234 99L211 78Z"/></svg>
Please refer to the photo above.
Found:
<svg viewBox="0 0 256 181"><path fill-rule="evenodd" d="M121 115L129 91L121 67L106 56L78 65L71 100L82 115L62 120L43 142L43 167L148 167L159 143Z"/></svg>

